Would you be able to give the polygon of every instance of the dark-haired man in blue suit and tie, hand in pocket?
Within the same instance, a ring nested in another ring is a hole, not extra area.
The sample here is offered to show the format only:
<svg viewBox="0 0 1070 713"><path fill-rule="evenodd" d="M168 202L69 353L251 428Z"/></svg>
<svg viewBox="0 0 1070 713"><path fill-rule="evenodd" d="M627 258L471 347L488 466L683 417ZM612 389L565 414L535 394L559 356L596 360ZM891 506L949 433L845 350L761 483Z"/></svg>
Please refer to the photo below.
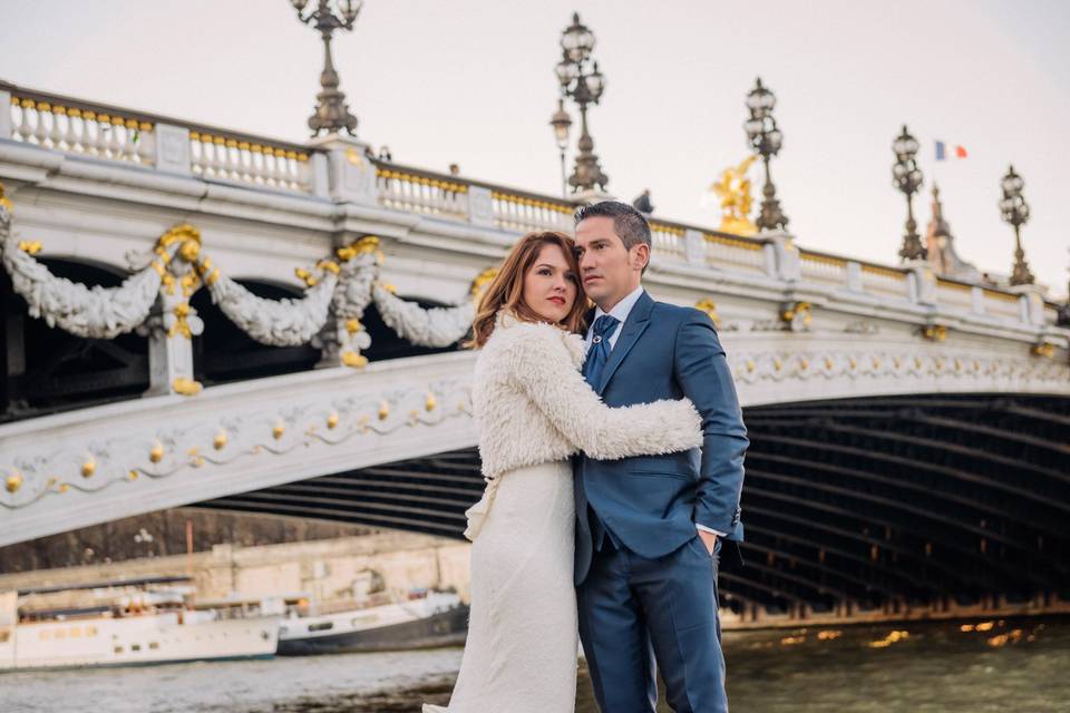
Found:
<svg viewBox="0 0 1070 713"><path fill-rule="evenodd" d="M646 219L606 201L576 215L583 286L597 309L584 375L611 407L691 399L703 447L575 463L580 636L603 713L653 713L655 671L678 713L728 711L717 614L722 540L742 540L747 431L710 319L641 285ZM656 664L656 667L655 667Z"/></svg>

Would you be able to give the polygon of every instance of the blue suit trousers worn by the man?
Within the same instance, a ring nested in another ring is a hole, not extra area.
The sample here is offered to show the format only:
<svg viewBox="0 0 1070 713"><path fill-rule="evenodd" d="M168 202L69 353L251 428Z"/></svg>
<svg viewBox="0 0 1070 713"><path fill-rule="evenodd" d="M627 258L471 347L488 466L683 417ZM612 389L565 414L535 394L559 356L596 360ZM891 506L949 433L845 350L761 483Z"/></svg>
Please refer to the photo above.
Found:
<svg viewBox="0 0 1070 713"><path fill-rule="evenodd" d="M721 539L696 534L649 559L605 538L576 588L580 638L603 713L653 713L656 672L677 713L728 713L718 617Z"/></svg>

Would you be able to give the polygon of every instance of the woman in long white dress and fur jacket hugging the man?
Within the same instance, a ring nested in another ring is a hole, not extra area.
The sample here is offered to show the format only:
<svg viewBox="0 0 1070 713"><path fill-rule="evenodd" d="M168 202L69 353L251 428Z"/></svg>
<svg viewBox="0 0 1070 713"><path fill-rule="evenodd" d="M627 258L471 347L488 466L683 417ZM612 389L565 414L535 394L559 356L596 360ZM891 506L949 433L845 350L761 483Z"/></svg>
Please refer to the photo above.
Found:
<svg viewBox="0 0 1070 713"><path fill-rule="evenodd" d="M487 487L467 512L468 642L449 707L425 713L571 713L578 644L568 457L701 445L690 401L611 409L584 381L577 275L572 238L531 233L479 304L471 400Z"/></svg>

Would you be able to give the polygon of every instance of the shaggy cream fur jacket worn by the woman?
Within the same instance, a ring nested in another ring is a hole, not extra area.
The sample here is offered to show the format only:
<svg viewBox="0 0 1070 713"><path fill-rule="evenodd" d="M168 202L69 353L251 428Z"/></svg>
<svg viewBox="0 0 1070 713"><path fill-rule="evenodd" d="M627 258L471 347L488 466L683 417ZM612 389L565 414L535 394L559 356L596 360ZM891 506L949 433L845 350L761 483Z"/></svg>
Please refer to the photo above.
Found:
<svg viewBox="0 0 1070 713"><path fill-rule="evenodd" d="M546 323L498 314L476 361L471 392L487 489L469 508L475 539L500 477L584 451L599 460L671 453L702 445L701 419L687 399L611 409L580 373L584 344Z"/></svg>

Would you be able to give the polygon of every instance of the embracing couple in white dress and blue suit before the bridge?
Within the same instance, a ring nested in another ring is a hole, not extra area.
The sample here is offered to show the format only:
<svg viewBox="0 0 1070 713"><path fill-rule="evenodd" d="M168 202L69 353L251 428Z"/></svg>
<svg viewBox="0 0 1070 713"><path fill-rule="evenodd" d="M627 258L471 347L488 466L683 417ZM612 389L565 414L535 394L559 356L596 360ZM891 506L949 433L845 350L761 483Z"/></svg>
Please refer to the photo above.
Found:
<svg viewBox="0 0 1070 713"><path fill-rule="evenodd" d="M710 319L643 291L650 252L638 211L596 203L574 240L524 236L480 302L468 642L425 713L571 713L577 632L603 713L652 713L656 671L673 711L728 711L747 434Z"/></svg>

